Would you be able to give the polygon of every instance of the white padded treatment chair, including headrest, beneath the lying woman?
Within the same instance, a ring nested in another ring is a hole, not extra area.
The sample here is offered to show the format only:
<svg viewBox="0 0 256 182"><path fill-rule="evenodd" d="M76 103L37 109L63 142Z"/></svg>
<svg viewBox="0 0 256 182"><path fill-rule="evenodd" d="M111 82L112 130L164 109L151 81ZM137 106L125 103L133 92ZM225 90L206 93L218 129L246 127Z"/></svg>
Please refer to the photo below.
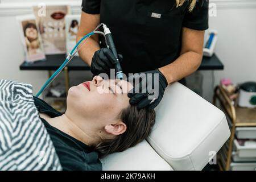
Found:
<svg viewBox="0 0 256 182"><path fill-rule="evenodd" d="M225 114L179 82L155 111L151 135L102 159L103 170L201 170L229 138Z"/></svg>

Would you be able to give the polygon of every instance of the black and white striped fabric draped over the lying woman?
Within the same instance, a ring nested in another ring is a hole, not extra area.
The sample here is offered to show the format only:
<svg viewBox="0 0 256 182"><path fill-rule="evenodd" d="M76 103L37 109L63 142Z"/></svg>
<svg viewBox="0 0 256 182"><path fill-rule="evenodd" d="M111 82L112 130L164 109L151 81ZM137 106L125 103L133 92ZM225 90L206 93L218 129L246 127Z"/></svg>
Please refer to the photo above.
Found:
<svg viewBox="0 0 256 182"><path fill-rule="evenodd" d="M29 84L0 80L0 170L61 170Z"/></svg>

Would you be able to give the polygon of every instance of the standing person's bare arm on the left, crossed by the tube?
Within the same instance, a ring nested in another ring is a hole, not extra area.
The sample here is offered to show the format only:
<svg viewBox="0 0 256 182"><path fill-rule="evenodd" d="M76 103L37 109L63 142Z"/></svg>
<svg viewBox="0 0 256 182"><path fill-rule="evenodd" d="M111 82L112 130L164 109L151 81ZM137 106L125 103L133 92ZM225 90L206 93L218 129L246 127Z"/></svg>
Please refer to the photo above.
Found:
<svg viewBox="0 0 256 182"><path fill-rule="evenodd" d="M79 42L83 36L92 32L98 24L100 24L100 14L93 15L82 11L76 42ZM98 35L90 36L86 44L84 44L84 46L79 50L79 56L85 61L85 63L90 65L94 52L98 49L100 49L100 45L98 44Z"/></svg>

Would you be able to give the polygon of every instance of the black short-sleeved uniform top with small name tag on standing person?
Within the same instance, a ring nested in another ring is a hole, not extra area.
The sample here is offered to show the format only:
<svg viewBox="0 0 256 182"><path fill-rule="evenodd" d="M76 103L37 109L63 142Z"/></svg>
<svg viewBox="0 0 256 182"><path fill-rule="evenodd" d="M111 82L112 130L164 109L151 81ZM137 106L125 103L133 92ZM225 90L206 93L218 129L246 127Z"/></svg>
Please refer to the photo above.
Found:
<svg viewBox="0 0 256 182"><path fill-rule="evenodd" d="M175 0L82 1L82 11L100 14L100 22L110 28L126 74L175 61L180 55L182 27L206 30L208 6L208 0L199 0L189 13L189 1L178 8Z"/></svg>

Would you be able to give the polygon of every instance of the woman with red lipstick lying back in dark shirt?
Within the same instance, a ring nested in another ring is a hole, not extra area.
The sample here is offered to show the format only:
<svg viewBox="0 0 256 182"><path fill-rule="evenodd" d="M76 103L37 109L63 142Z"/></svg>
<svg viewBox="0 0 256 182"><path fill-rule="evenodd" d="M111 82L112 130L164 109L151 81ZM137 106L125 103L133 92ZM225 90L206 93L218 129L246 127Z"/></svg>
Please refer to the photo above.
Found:
<svg viewBox="0 0 256 182"><path fill-rule="evenodd" d="M129 104L132 87L95 76L69 89L63 115L34 97L64 170L101 170L99 157L124 151L150 134L155 112Z"/></svg>

